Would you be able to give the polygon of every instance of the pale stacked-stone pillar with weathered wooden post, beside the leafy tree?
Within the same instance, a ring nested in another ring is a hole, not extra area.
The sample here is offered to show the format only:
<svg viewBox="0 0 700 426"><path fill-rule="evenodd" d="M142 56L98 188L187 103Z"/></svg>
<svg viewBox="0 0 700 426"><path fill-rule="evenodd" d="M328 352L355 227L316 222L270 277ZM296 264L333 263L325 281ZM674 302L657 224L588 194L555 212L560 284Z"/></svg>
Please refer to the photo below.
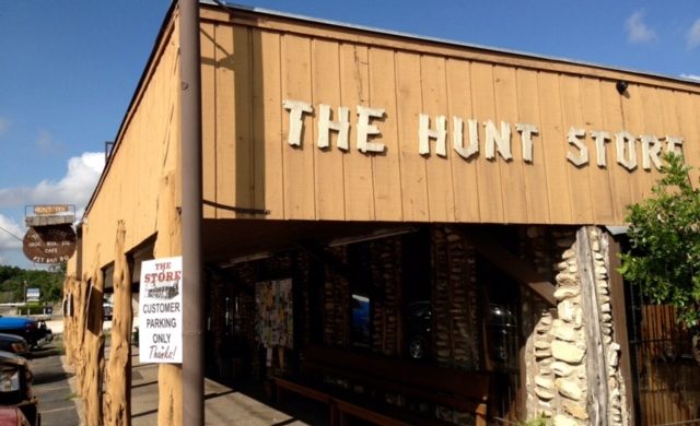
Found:
<svg viewBox="0 0 700 426"><path fill-rule="evenodd" d="M547 234L541 227L527 232L536 245ZM626 425L629 416L618 364L620 345L612 332L607 235L585 227L578 234L550 230L549 237L559 252L553 264L557 308L540 310L526 343L528 418L544 413L557 426ZM541 253L535 258L541 261ZM590 271L593 280L582 280L582 271ZM586 304L586 298L592 303ZM597 345L596 329L602 335ZM597 368L605 377L598 377ZM602 398L604 403L598 401Z"/></svg>

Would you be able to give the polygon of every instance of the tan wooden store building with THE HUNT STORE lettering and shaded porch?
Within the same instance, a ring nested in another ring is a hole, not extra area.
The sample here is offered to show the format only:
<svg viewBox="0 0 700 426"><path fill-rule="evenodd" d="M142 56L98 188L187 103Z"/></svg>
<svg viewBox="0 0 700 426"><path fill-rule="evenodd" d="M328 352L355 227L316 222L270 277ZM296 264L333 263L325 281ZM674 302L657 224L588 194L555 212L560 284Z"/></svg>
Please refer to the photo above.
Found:
<svg viewBox="0 0 700 426"><path fill-rule="evenodd" d="M68 357L89 424L119 415L142 262L182 255L180 12L164 20L69 262ZM676 326L650 326L658 309L616 268L627 205L651 193L663 153L682 153L697 181L700 84L199 12L208 378L257 384L270 403L307 399L328 424L697 417L700 367L678 356L660 369L666 346L652 343ZM182 423L180 366L160 369L159 424Z"/></svg>

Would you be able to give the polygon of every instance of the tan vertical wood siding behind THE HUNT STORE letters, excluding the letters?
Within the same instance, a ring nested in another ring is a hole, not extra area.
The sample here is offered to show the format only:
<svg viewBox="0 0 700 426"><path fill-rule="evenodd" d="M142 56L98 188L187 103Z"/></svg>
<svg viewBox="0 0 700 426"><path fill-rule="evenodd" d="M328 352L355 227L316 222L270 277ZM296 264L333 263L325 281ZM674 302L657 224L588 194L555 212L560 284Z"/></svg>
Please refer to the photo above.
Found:
<svg viewBox="0 0 700 426"><path fill-rule="evenodd" d="M692 85L679 91L661 79L634 82L622 72L586 73L583 66L544 59L521 67L502 54L471 58L466 48L287 24L202 26L205 197L269 210L250 215L208 208L207 217L620 224L626 205L649 196L658 173L642 168L639 141L638 167L629 171L617 164L616 132L682 137L687 161L699 164L692 110L700 97ZM632 81L626 95L615 88L618 79ZM303 116L301 146L287 142L284 99L314 108ZM332 131L329 147L316 146L319 104L330 106L331 120L340 106L349 108L347 152L337 147ZM358 105L385 110L372 121L381 129L372 142L385 144L384 152L358 151ZM430 117L431 129L438 116L447 118L446 156L435 154L434 140L431 154L419 154L420 114ZM465 159L453 150L453 116L465 120L465 145L466 120L478 121L476 156ZM510 123L512 159L498 151L486 158L488 120L499 130L501 121ZM523 159L517 123L538 128L530 163ZM572 127L586 133L590 159L579 167L567 161L576 153L567 140ZM594 130L610 133L606 167L596 165Z"/></svg>

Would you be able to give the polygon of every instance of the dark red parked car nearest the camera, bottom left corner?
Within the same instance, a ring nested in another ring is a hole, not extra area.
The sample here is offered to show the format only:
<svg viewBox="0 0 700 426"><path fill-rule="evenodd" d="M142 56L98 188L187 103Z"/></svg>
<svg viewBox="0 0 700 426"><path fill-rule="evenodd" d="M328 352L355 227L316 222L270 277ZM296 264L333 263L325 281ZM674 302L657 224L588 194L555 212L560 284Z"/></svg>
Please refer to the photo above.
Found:
<svg viewBox="0 0 700 426"><path fill-rule="evenodd" d="M31 426L39 426L39 400L32 389L33 379L25 358L0 351L0 406L18 407Z"/></svg>

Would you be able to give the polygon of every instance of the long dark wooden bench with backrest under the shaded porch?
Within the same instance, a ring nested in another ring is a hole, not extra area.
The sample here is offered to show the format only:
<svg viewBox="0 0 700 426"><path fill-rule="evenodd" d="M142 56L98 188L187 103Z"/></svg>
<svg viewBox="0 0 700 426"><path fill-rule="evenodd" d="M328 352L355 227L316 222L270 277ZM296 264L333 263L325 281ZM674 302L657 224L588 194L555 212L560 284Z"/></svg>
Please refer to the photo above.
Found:
<svg viewBox="0 0 700 426"><path fill-rule="evenodd" d="M334 388L328 378L347 381L366 392ZM388 404L387 394L400 395L413 405L432 404L471 413L478 426L487 421L489 376L439 368L434 365L389 358L370 353L310 346L304 351L301 376L273 378L278 399L291 391L329 406L330 423L347 423L348 416L383 426L448 423L424 413Z"/></svg>

